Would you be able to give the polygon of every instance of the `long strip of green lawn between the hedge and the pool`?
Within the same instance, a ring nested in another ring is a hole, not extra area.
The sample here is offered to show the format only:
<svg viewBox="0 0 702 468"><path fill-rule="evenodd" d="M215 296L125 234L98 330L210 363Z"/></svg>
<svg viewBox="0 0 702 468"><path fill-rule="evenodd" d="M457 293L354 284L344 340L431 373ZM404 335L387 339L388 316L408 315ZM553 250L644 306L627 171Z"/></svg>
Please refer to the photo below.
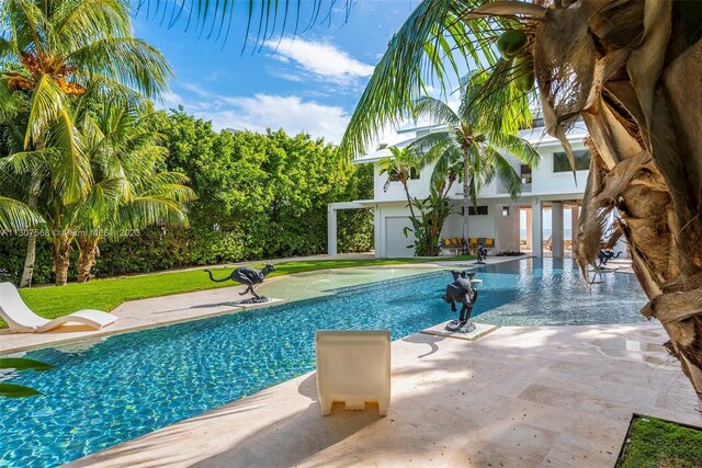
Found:
<svg viewBox="0 0 702 468"><path fill-rule="evenodd" d="M269 277L314 270L343 269L369 265L399 265L408 263L431 263L441 261L474 260L475 256L451 256L433 259L367 259L367 260L317 260L291 261L275 264ZM215 277L223 277L233 269L212 269ZM110 311L125 300L168 296L193 290L233 286L234 282L213 283L202 270L185 272L155 273L110 279L93 279L84 284L69 284L63 287L34 287L21 289L22 298L32 310L42 317L53 319L80 309ZM8 324L0 319L0 328Z"/></svg>

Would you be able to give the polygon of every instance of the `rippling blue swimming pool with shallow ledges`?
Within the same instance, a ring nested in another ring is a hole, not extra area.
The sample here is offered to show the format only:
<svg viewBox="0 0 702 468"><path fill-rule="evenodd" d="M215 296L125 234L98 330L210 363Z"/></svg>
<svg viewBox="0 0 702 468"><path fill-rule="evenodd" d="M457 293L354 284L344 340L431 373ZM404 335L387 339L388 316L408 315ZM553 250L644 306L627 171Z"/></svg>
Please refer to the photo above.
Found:
<svg viewBox="0 0 702 468"><path fill-rule="evenodd" d="M643 321L646 299L629 274L590 290L567 260L523 260L478 277L479 322ZM56 368L10 376L43 395L0 399L0 466L60 465L309 372L317 329L398 339L453 318L440 298L450 279L426 269L306 274L261 289L292 303L29 352Z"/></svg>

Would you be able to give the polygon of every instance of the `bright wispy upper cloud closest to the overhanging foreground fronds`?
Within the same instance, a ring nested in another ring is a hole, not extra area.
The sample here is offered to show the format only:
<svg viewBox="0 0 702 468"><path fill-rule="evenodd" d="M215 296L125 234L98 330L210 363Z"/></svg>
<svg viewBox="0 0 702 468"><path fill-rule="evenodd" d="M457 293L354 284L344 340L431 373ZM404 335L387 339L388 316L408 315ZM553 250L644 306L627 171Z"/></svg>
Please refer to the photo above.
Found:
<svg viewBox="0 0 702 468"><path fill-rule="evenodd" d="M359 78L370 77L373 67L351 57L331 44L303 38L283 37L268 41L265 46L275 52L276 60L293 61L318 79L336 84L352 84Z"/></svg>

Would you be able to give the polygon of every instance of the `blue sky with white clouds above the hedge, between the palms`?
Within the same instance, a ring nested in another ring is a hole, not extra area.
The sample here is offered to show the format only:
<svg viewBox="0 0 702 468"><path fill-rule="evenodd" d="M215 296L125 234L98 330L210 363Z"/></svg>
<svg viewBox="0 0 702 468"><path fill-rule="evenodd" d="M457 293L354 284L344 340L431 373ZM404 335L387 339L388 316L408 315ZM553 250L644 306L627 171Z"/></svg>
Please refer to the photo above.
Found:
<svg viewBox="0 0 702 468"><path fill-rule="evenodd" d="M373 67L417 4L418 0L362 0L346 23L339 5L331 24L317 24L296 36L288 25L288 33L273 35L260 52L249 47L244 54L247 2L235 3L224 46L222 39L208 41L207 33L200 37L192 27L184 32L183 19L168 27L160 16L152 18L152 11L147 16L145 9L134 26L137 37L161 49L176 73L160 106L182 104L216 129L282 127L338 142ZM305 12L302 18L307 19Z"/></svg>

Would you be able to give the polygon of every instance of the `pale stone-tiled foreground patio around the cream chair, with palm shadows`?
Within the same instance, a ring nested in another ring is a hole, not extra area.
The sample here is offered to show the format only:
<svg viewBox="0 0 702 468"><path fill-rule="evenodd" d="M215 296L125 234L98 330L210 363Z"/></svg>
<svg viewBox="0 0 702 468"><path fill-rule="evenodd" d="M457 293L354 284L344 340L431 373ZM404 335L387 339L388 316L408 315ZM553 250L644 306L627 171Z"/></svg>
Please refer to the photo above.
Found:
<svg viewBox="0 0 702 468"><path fill-rule="evenodd" d="M611 467L634 412L702 424L664 341L655 323L414 334L387 418L322 418L312 373L69 466Z"/></svg>

